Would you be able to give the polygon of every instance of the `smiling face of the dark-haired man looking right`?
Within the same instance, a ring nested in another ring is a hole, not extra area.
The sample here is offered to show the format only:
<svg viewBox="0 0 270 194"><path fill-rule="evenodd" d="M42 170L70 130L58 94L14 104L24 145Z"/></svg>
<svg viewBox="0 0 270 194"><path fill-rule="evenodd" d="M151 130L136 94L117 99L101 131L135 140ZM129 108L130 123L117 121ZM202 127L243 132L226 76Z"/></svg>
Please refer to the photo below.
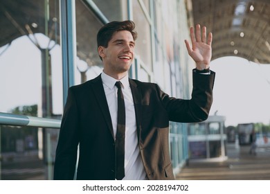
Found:
<svg viewBox="0 0 270 194"><path fill-rule="evenodd" d="M127 75L132 60L134 59L135 42L132 33L121 30L111 37L107 48L98 47L98 53L104 64L104 72L115 78L120 74Z"/></svg>

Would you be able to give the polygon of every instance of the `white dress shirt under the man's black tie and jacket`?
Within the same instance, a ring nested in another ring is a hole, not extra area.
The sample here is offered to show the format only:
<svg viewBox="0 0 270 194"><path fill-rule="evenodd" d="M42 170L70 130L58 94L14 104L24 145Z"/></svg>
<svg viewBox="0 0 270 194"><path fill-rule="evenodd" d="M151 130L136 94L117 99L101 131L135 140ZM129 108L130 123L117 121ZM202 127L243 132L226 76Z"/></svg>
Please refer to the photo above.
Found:
<svg viewBox="0 0 270 194"><path fill-rule="evenodd" d="M105 90L111 122L114 128L114 136L117 130L117 87L118 81L102 71L102 84ZM146 173L138 148L138 135L136 130L136 116L132 90L129 87L129 78L125 76L121 80L122 92L125 100L125 177L123 180L142 180ZM106 154L106 153L105 153Z"/></svg>

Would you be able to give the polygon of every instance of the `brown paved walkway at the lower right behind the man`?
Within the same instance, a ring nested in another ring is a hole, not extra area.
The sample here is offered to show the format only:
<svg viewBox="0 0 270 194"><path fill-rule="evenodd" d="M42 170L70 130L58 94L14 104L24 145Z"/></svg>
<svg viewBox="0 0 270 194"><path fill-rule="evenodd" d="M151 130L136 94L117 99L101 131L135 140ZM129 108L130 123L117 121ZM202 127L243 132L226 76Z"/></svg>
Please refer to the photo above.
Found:
<svg viewBox="0 0 270 194"><path fill-rule="evenodd" d="M235 148L228 144L226 161L202 162L192 160L183 167L179 180L270 180L270 152L249 155L249 146Z"/></svg>

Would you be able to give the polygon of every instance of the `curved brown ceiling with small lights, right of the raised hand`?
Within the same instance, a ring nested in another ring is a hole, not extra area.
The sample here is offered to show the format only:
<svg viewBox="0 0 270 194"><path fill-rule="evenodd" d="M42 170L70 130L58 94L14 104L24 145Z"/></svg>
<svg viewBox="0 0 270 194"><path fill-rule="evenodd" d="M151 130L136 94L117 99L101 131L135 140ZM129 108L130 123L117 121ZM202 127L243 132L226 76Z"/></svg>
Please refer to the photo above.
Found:
<svg viewBox="0 0 270 194"><path fill-rule="evenodd" d="M194 24L213 33L212 60L237 56L270 64L269 0L192 0Z"/></svg>

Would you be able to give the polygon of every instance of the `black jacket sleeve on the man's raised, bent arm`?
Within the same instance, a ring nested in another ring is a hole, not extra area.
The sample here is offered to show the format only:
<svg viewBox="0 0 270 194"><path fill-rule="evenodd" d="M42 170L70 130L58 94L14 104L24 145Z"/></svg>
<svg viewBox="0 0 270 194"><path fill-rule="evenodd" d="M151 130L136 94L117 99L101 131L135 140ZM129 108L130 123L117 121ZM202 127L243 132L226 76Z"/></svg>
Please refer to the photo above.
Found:
<svg viewBox="0 0 270 194"><path fill-rule="evenodd" d="M213 103L215 72L210 71L210 75L203 75L193 71L192 74L193 89L190 100L172 98L159 89L170 121L192 123L208 118Z"/></svg>

